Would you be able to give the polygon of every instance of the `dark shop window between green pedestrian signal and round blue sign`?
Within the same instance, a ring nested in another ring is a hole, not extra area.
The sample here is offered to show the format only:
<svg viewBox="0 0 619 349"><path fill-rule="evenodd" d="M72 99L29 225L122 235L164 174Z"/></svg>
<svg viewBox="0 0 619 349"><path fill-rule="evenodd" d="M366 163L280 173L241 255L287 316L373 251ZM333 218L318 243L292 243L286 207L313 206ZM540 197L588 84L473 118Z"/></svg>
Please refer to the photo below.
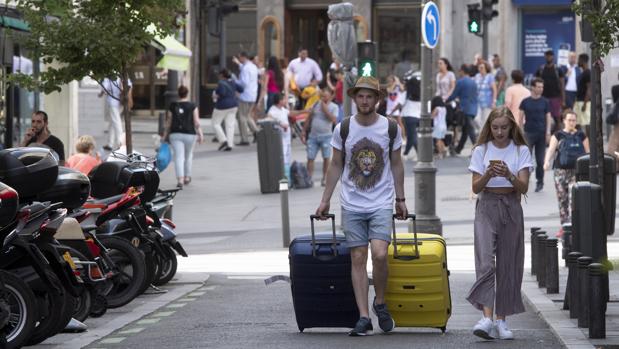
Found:
<svg viewBox="0 0 619 349"><path fill-rule="evenodd" d="M378 42L378 75L381 80L390 75L402 76L407 70L420 67L419 7L377 8L374 38Z"/></svg>

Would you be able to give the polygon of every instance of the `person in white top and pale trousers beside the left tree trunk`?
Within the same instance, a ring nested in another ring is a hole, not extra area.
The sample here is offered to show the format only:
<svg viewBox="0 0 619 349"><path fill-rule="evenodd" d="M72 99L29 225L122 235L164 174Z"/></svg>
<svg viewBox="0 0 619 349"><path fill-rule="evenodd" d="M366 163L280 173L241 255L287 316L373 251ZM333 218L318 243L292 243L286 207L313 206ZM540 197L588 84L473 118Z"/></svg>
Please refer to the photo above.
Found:
<svg viewBox="0 0 619 349"><path fill-rule="evenodd" d="M131 94L131 80L129 83L129 109L133 105L133 97ZM122 118L120 117L120 111L122 108L122 81L120 77L112 80L111 78L105 78L101 82L102 90L99 92L99 98L106 95L104 115L105 120L109 122L107 128L108 142L103 146L103 149L112 151L120 147L121 139L120 135L123 133Z"/></svg>

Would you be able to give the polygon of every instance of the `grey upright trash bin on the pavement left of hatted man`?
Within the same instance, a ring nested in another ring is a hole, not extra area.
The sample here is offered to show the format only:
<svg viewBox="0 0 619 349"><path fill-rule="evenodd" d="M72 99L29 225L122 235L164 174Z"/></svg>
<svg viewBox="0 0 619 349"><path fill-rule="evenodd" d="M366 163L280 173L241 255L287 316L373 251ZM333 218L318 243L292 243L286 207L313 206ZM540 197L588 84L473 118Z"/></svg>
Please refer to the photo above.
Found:
<svg viewBox="0 0 619 349"><path fill-rule="evenodd" d="M279 181L284 178L284 154L281 131L274 121L260 121L256 134L260 192L279 192Z"/></svg>

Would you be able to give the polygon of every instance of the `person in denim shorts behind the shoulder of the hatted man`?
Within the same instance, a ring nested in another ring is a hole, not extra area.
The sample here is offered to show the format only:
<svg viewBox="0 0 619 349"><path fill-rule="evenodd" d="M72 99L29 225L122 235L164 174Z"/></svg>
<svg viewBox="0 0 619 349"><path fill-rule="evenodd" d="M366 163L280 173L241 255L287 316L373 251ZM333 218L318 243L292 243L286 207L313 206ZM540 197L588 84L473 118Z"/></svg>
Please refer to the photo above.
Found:
<svg viewBox="0 0 619 349"><path fill-rule="evenodd" d="M333 125L337 121L338 106L332 102L333 91L330 88L322 89L320 95L320 102L314 104L303 123L301 142L307 145L307 172L310 177L314 176L314 160L318 155L318 150L321 151L322 179L320 185L324 187L331 159L331 138L333 138Z"/></svg>

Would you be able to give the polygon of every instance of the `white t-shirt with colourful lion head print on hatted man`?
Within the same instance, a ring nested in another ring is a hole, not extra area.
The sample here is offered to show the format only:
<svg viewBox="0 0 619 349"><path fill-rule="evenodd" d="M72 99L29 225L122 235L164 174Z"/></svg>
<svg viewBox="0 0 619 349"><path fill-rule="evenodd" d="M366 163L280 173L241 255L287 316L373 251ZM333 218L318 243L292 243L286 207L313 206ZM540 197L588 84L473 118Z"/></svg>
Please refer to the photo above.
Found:
<svg viewBox="0 0 619 349"><path fill-rule="evenodd" d="M342 150L341 123L335 127L331 145ZM402 147L398 126L393 150ZM370 126L350 118L346 138L346 161L342 173L340 202L345 210L360 213L393 208L394 183L389 159L389 121L384 116Z"/></svg>

